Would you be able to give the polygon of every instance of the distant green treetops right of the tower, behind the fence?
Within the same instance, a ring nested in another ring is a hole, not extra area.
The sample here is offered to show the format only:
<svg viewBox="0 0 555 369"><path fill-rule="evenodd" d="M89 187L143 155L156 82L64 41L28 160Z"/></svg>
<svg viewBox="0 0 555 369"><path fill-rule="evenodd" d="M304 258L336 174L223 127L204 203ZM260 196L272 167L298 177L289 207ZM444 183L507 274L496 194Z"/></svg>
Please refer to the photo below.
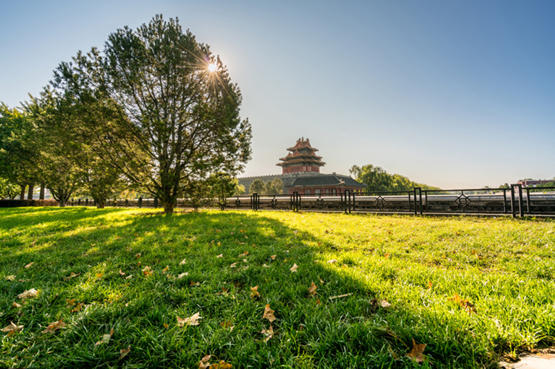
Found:
<svg viewBox="0 0 555 369"><path fill-rule="evenodd" d="M438 187L428 186L422 183L411 181L399 174L389 174L379 166L367 164L365 166L352 166L349 169L356 181L364 183L364 191L386 192L386 191L412 191L413 188L420 187L423 190L439 190Z"/></svg>

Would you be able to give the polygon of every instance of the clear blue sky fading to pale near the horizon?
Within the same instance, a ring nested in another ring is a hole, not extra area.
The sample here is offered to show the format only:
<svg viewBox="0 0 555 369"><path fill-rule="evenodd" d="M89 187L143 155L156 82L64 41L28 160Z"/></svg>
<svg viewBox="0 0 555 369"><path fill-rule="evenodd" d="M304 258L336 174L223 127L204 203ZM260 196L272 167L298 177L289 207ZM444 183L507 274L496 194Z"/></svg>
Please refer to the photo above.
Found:
<svg viewBox="0 0 555 369"><path fill-rule="evenodd" d="M241 176L280 173L300 137L324 173L373 164L443 189L555 176L555 1L0 0L0 102L156 14L238 84Z"/></svg>

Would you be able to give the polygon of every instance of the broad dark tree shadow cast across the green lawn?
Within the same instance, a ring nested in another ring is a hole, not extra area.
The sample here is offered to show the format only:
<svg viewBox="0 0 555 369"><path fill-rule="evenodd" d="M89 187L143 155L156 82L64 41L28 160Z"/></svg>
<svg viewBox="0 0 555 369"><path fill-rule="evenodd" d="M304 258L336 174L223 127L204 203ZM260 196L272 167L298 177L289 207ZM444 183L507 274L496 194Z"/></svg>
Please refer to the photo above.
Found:
<svg viewBox="0 0 555 369"><path fill-rule="evenodd" d="M495 365L464 312L414 311L403 301L382 306L384 290L368 277L395 278L395 269L385 265L378 274L361 275L359 260L348 252L335 263L319 260L337 245L322 232L282 218L297 214L166 217L120 209L71 209L70 214L75 218L56 242L48 239L51 235L20 252L0 248L2 273L16 275L14 282L4 276L0 281L5 311L0 323L24 326L4 338L0 365L196 368L205 355L213 355L211 363L225 360L234 368ZM28 227L45 222L33 216L36 223ZM100 219L107 227L96 223ZM0 232L5 237L9 226ZM18 239L29 242L25 235ZM34 264L23 267L29 262ZM256 286L260 296L252 298ZM36 299L11 306L31 288L39 290ZM275 311L271 324L263 319L266 304ZM178 326L178 316L196 313L202 317L199 326ZM68 325L55 334L41 333L58 319ZM270 326L273 336L265 341L271 334L261 331ZM413 340L428 343L423 365L406 357ZM131 351L120 359L128 346Z"/></svg>

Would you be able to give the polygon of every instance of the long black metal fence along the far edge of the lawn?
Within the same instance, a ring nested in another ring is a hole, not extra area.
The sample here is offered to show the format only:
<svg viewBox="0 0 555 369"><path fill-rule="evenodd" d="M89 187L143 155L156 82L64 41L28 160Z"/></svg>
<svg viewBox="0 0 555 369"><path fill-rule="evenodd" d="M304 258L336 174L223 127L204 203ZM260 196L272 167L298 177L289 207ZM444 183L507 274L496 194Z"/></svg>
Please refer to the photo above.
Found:
<svg viewBox="0 0 555 369"><path fill-rule="evenodd" d="M70 205L93 206L93 200L71 200ZM198 206L191 199L177 200L177 208ZM105 206L158 208L156 198L107 200ZM204 200L204 208L221 210L290 210L342 213L384 213L412 215L512 215L555 216L555 187L477 188L461 190L423 190L352 192L337 195L302 194L236 196L223 201Z"/></svg>

